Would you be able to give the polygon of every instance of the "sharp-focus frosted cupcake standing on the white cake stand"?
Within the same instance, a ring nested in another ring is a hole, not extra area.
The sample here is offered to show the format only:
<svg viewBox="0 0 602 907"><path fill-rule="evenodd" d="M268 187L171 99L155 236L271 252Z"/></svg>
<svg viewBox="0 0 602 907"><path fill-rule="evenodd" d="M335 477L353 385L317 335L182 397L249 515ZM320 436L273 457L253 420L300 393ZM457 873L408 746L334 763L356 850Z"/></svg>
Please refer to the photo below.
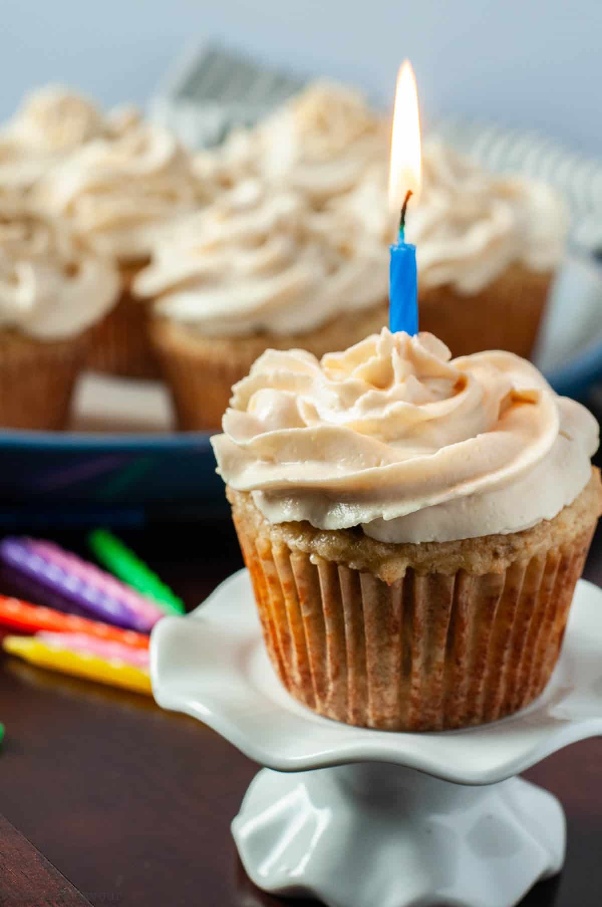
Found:
<svg viewBox="0 0 602 907"><path fill-rule="evenodd" d="M286 689L396 731L528 705L602 511L597 432L510 353L386 328L321 362L268 350L212 444Z"/></svg>

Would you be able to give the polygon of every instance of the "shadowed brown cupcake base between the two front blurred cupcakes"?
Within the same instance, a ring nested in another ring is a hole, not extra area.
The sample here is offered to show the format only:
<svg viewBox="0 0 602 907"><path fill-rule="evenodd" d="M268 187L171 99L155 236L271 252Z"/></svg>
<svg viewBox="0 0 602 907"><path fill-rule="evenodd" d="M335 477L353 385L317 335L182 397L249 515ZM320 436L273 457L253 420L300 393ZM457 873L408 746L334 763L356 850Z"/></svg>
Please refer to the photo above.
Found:
<svg viewBox="0 0 602 907"><path fill-rule="evenodd" d="M86 365L97 372L126 378L158 378L160 368L150 346L148 303L131 295L140 267L121 268L122 290L117 305L92 327Z"/></svg>

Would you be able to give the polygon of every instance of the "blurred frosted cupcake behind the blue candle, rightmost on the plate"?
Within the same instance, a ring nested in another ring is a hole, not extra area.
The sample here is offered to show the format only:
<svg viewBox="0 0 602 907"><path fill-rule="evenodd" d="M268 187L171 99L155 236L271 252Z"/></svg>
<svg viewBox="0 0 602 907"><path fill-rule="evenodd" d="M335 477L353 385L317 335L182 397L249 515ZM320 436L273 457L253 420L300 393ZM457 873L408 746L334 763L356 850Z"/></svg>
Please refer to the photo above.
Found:
<svg viewBox="0 0 602 907"><path fill-rule="evenodd" d="M423 185L405 236L416 245L421 327L455 353L507 349L530 356L561 261L565 210L548 186L495 176L438 141L422 155ZM384 164L338 205L384 243Z"/></svg>

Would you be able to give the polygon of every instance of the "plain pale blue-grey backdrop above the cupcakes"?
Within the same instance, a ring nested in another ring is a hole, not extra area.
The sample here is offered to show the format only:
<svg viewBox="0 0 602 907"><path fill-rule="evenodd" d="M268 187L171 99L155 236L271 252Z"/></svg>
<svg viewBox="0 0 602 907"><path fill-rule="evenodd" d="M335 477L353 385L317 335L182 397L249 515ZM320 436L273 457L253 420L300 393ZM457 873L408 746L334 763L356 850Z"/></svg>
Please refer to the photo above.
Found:
<svg viewBox="0 0 602 907"><path fill-rule="evenodd" d="M49 81L145 102L209 37L384 102L409 56L427 125L457 113L602 154L602 0L0 0L0 117Z"/></svg>

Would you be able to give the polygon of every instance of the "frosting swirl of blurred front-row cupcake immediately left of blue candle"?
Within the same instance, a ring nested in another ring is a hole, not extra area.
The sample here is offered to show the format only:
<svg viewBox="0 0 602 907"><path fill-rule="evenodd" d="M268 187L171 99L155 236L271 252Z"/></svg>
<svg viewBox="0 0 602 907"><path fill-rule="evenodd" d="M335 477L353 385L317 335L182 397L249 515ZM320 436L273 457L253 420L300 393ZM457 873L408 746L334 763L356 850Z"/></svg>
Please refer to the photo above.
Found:
<svg viewBox="0 0 602 907"><path fill-rule="evenodd" d="M134 292L203 335L285 335L383 302L387 280L387 250L357 225L248 179L158 243Z"/></svg>

